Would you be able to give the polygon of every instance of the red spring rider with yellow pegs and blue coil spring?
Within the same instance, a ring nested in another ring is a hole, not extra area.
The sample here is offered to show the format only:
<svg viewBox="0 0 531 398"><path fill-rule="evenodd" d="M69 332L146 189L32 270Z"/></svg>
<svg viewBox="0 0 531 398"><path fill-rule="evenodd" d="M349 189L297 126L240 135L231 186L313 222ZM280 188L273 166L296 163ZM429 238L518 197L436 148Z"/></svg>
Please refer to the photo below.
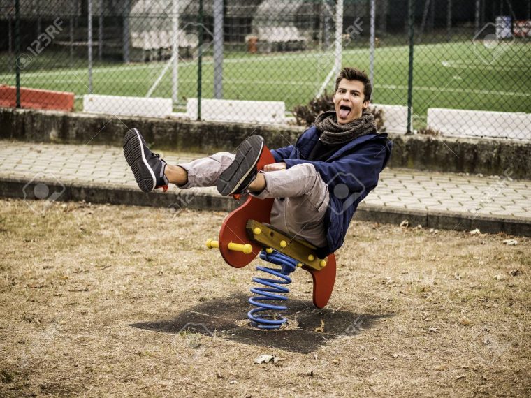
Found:
<svg viewBox="0 0 531 398"><path fill-rule="evenodd" d="M270 150L264 145L256 167L275 163ZM240 197L234 195L238 200ZM242 268L260 256L262 260L279 265L277 267L257 266L256 270L265 272L268 277L254 277L253 281L262 286L251 288L256 296L249 303L256 308L247 314L251 324L259 329L278 329L284 323L284 316L264 314L264 311L284 311L285 305L270 304L270 301L286 301L291 283L289 274L298 267L310 272L313 279L313 303L323 308L328 303L335 283L335 255L319 258L316 247L300 239L293 239L286 233L268 225L274 198L257 199L249 196L247 200L226 216L217 240L208 239L209 249L219 249L228 265ZM269 277L278 279L270 279Z"/></svg>

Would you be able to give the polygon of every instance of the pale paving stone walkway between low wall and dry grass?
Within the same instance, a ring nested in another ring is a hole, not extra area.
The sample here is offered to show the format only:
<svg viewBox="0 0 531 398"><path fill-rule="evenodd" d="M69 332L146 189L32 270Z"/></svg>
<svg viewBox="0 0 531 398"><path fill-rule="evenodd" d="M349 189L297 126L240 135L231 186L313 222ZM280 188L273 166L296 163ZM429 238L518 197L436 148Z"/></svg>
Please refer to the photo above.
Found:
<svg viewBox="0 0 531 398"><path fill-rule="evenodd" d="M189 161L194 154L163 154L168 163ZM52 180L61 184L99 184L138 190L122 148L0 141L0 178ZM172 186L172 191L179 191ZM196 191L196 190L194 190ZM216 189L198 189L219 196ZM393 210L460 213L531 219L531 182L510 175L483 177L389 169L365 205Z"/></svg>

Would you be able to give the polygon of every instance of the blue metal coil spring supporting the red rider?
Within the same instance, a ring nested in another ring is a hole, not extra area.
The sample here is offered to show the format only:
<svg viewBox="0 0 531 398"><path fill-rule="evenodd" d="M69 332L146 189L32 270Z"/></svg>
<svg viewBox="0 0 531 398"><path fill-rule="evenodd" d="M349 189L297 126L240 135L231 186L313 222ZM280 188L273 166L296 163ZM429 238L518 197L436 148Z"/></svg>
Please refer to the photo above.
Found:
<svg viewBox="0 0 531 398"><path fill-rule="evenodd" d="M298 261L276 250L273 250L272 253L267 253L263 250L260 252L260 258L266 260L268 263L280 265L280 268L261 267L258 265L256 266L256 270L266 272L280 279L253 278L253 282L260 283L266 287L251 288L251 293L257 296L249 298L249 303L257 308L249 311L247 317L251 321L251 324L259 329L278 329L286 323L287 319L284 316L279 316L279 318L275 316L275 318L272 318L269 315L261 314L261 312L285 311L288 309L285 305L268 304L268 301L288 300L285 294L289 293L289 288L282 285L291 283L291 278L288 275L296 270Z"/></svg>

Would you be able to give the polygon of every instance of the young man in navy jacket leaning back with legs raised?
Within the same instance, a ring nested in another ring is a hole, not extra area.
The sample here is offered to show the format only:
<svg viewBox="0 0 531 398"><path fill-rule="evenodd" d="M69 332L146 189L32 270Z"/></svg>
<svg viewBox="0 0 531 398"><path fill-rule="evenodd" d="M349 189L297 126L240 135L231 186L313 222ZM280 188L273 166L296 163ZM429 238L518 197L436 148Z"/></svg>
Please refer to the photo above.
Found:
<svg viewBox="0 0 531 398"><path fill-rule="evenodd" d="M344 68L335 82L335 110L321 113L295 145L272 150L277 163L260 172L259 135L242 142L236 154L219 152L168 165L133 128L124 138L124 155L146 192L173 183L181 189L217 186L221 195L275 198L271 225L326 256L342 246L359 202L377 186L391 156L387 134L377 133L374 117L366 112L371 92L363 71Z"/></svg>

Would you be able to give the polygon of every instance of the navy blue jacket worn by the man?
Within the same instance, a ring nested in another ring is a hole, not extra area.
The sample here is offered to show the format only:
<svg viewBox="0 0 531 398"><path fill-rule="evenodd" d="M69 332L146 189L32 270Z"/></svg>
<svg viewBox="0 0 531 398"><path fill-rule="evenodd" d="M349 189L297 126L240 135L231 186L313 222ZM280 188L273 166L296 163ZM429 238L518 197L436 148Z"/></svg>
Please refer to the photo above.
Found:
<svg viewBox="0 0 531 398"><path fill-rule="evenodd" d="M328 247L321 252L333 253L344 243L359 203L377 186L393 145L386 133L362 135L347 142L326 161L306 160L320 135L321 131L312 126L300 135L295 145L271 152L275 161L286 163L286 168L312 163L328 185L330 204L325 216Z"/></svg>

